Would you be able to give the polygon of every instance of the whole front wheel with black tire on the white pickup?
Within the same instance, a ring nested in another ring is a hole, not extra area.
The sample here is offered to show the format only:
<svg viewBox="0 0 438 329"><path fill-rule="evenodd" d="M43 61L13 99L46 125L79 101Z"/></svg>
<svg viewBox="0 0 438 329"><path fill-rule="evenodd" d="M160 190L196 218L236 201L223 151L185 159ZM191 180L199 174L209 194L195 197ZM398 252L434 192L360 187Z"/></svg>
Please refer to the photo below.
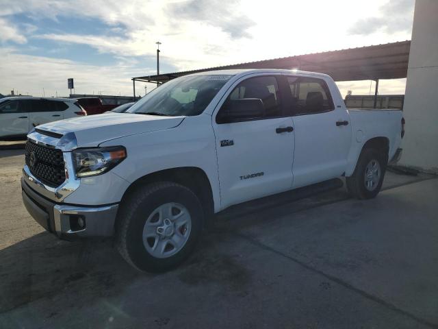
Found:
<svg viewBox="0 0 438 329"><path fill-rule="evenodd" d="M168 271L193 251L203 221L201 202L189 188L173 182L140 186L118 213L116 247L140 271Z"/></svg>

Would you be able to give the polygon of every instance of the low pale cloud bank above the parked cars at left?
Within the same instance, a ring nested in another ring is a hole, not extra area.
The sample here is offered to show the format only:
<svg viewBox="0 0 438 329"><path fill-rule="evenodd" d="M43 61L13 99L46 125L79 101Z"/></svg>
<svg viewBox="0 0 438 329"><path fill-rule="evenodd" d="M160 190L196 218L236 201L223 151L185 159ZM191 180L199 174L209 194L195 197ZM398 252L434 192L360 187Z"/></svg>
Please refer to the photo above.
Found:
<svg viewBox="0 0 438 329"><path fill-rule="evenodd" d="M131 77L138 73L135 66L121 62L112 66L80 64L71 60L29 56L15 48L0 49L0 72L8 79L0 79L0 92L10 90L41 96L68 95L67 78L75 78L76 93L132 95ZM141 86L138 86L141 92Z"/></svg>

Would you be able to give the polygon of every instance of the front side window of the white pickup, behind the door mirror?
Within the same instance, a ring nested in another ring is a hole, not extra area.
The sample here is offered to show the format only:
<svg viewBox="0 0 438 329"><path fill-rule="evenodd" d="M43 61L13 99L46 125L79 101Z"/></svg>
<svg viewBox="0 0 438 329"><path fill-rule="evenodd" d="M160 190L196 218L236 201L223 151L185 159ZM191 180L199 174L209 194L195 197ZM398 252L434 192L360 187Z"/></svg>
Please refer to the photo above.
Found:
<svg viewBox="0 0 438 329"><path fill-rule="evenodd" d="M260 99L263 103L264 113L250 119L268 119L283 115L280 104L279 85L275 77L250 77L240 82L222 105L219 116L223 115L224 108L229 108L231 102L242 99Z"/></svg>

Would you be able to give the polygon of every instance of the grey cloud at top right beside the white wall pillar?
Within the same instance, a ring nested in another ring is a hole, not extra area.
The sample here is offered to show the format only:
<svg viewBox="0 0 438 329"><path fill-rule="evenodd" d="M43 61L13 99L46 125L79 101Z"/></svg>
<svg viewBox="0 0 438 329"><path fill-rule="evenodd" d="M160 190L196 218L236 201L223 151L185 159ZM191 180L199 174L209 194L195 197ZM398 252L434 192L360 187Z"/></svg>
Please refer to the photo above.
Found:
<svg viewBox="0 0 438 329"><path fill-rule="evenodd" d="M415 0L389 0L379 8L379 15L360 19L348 29L348 34L368 35L383 31L387 34L407 32L412 28Z"/></svg>

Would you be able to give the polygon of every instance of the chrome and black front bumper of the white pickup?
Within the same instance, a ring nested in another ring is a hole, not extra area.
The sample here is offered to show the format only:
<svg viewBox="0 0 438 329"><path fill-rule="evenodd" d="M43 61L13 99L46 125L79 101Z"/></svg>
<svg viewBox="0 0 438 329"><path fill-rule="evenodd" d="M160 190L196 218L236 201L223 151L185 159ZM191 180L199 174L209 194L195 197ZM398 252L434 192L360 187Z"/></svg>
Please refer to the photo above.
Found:
<svg viewBox="0 0 438 329"><path fill-rule="evenodd" d="M23 203L29 214L47 231L60 239L112 236L118 204L107 206L70 206L56 204L36 193L21 178Z"/></svg>

